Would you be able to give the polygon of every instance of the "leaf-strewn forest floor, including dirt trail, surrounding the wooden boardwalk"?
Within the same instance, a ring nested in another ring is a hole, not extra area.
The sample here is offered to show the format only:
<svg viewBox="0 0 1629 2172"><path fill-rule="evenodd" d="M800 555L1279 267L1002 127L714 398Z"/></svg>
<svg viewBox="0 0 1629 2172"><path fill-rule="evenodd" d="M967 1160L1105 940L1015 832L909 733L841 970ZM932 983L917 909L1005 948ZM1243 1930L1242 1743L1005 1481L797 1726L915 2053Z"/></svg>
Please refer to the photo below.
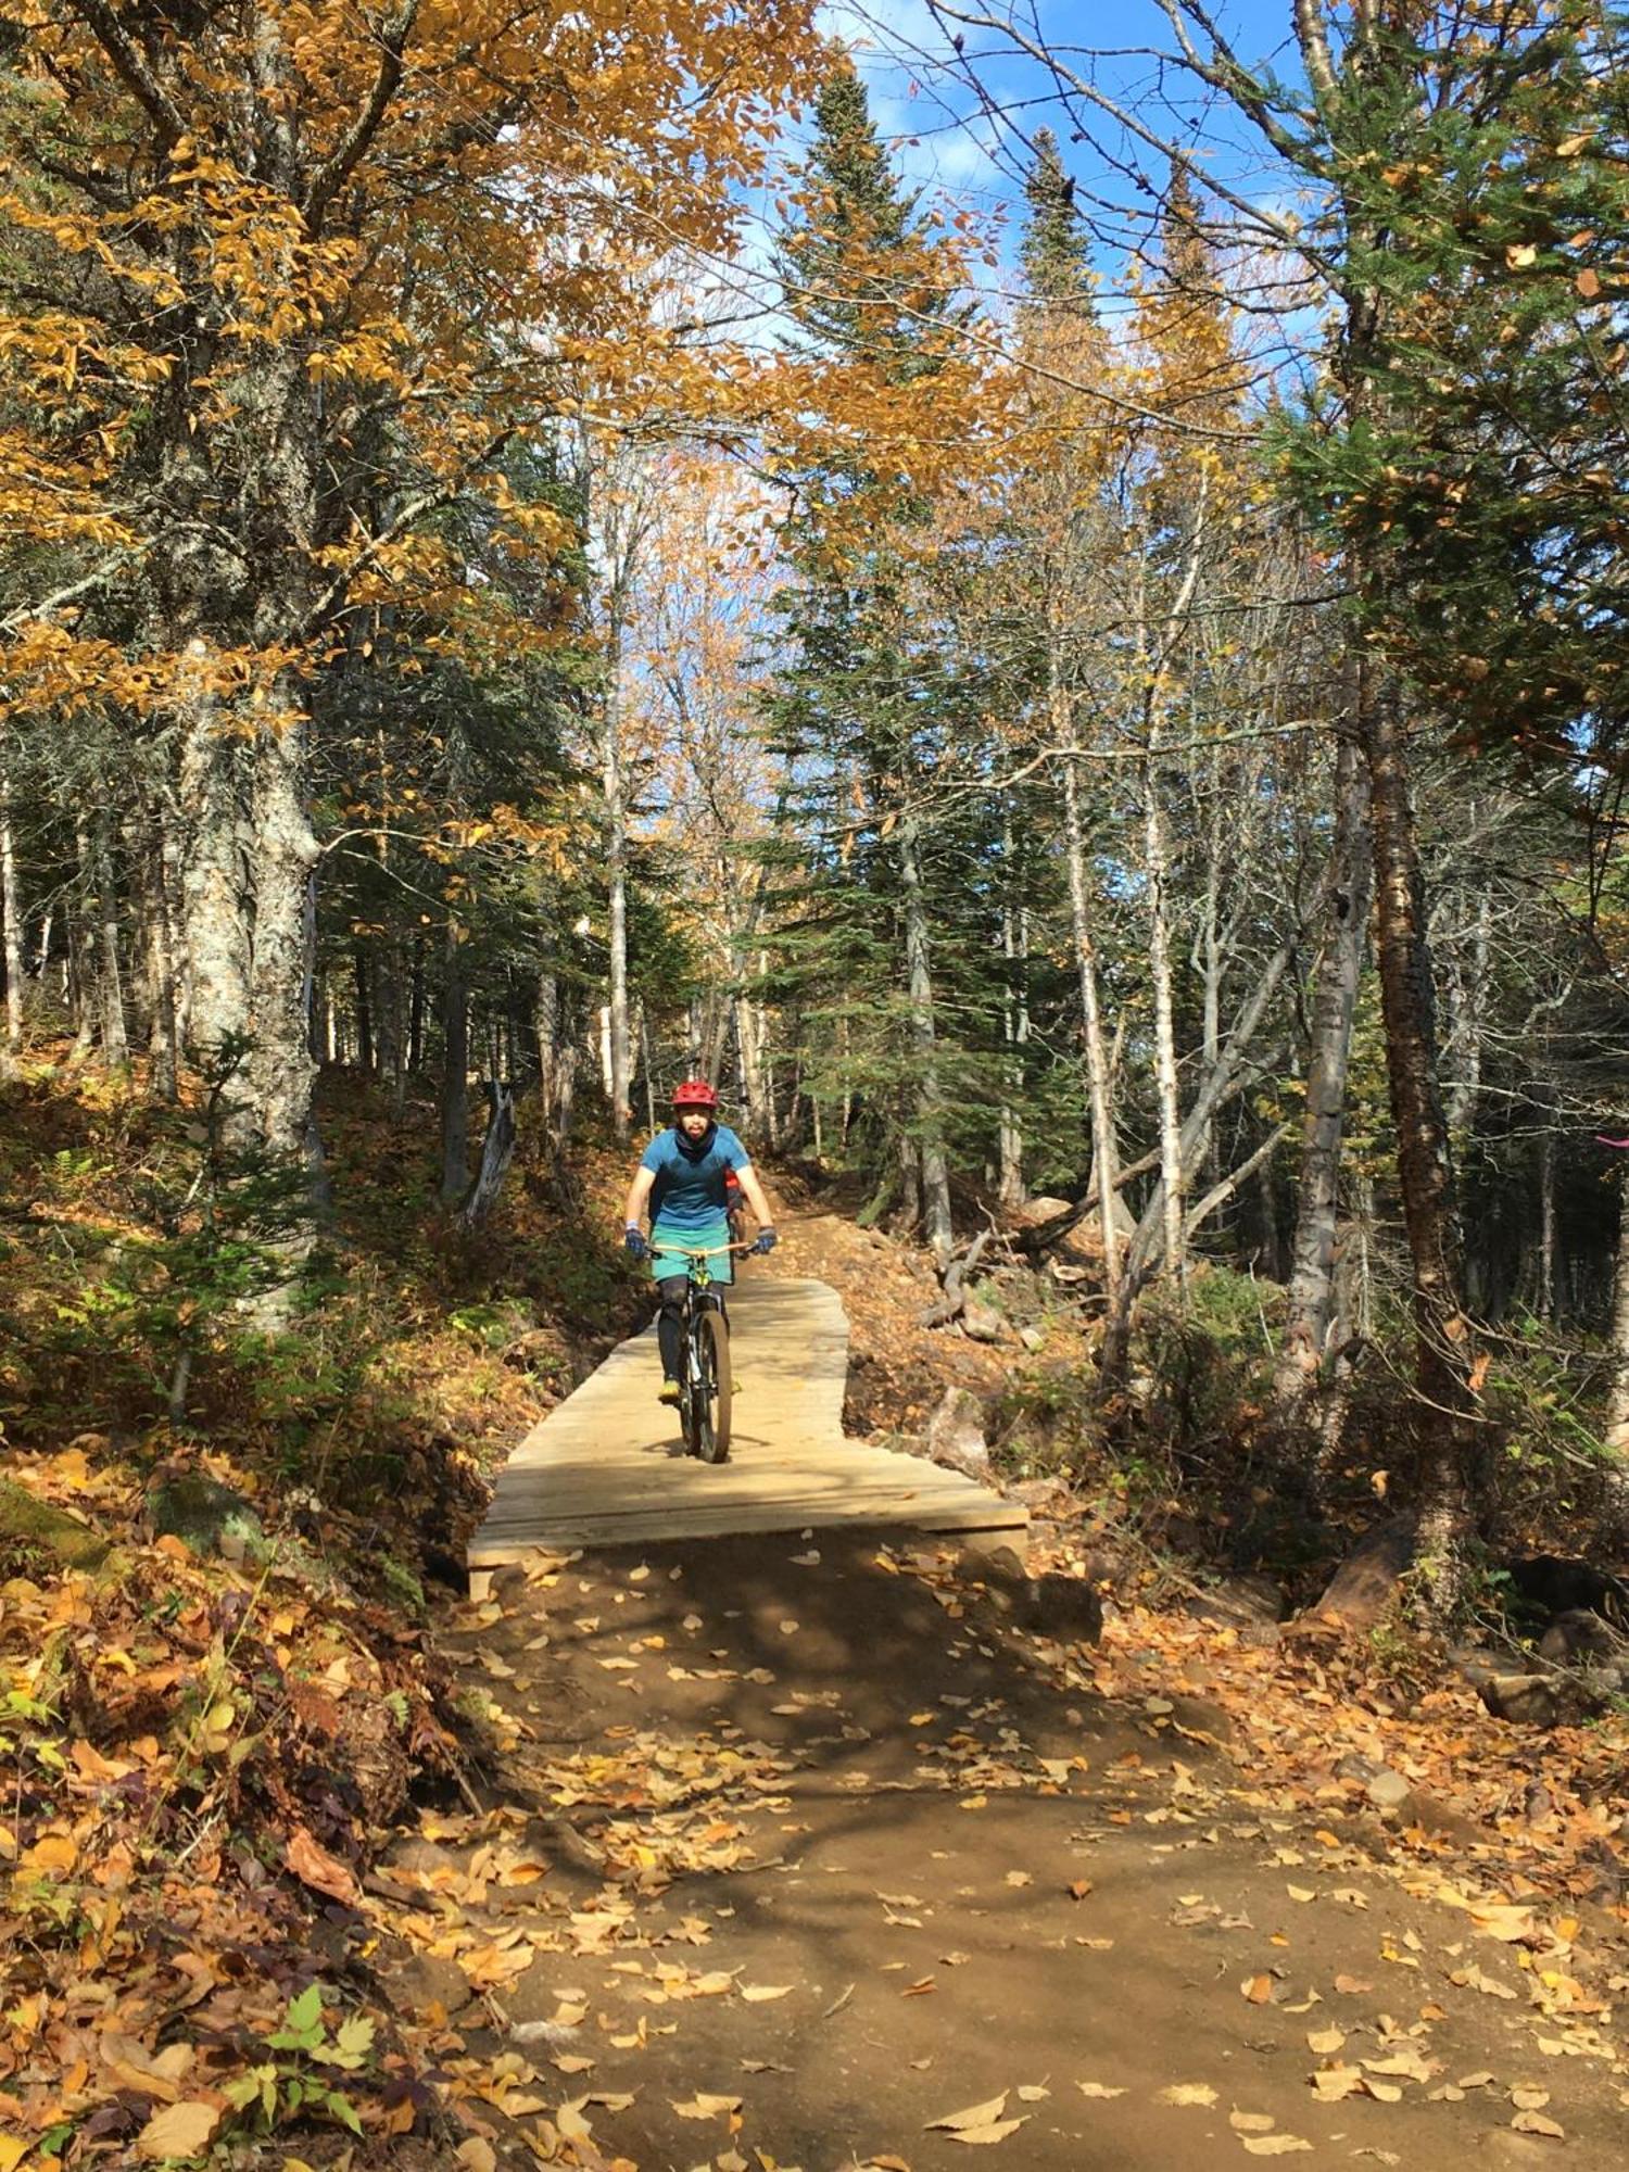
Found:
<svg viewBox="0 0 1629 2172"><path fill-rule="evenodd" d="M4 1533L0 2172L1620 2159L1620 1722L1505 1727L1401 1636L1279 1622L1103 1473L1023 1486L1097 1644L910 1533L539 1557L471 1605L419 1579L480 1473L641 1316L623 1158L519 1166L463 1245L341 1097L343 1279L174 1427L139 1247L185 1136L43 1075L7 1116L7 1505L91 1551ZM1025 1351L930 1331L914 1251L780 1184L767 1271L838 1288L854 1431L1071 1392L1069 1288L1012 1284ZM176 1464L263 1562L154 1533Z"/></svg>

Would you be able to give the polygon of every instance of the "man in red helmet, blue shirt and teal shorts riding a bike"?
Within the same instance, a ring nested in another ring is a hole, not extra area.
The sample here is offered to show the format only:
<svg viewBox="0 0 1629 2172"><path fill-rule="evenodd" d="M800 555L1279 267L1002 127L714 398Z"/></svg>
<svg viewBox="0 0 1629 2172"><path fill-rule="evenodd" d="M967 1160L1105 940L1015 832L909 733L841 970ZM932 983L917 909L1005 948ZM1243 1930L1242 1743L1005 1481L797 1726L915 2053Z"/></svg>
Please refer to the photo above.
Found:
<svg viewBox="0 0 1629 2172"><path fill-rule="evenodd" d="M673 1088L673 1123L645 1147L628 1186L623 1245L634 1260L649 1258L662 1310L656 1342L662 1353L662 1403L680 1399L680 1351L684 1342L686 1253L717 1253L708 1260L712 1279L734 1281L728 1221L728 1179L734 1177L758 1216L754 1251L773 1251L778 1236L765 1188L736 1134L719 1123L719 1097L706 1079L684 1079ZM641 1229L652 1210L649 1240Z"/></svg>

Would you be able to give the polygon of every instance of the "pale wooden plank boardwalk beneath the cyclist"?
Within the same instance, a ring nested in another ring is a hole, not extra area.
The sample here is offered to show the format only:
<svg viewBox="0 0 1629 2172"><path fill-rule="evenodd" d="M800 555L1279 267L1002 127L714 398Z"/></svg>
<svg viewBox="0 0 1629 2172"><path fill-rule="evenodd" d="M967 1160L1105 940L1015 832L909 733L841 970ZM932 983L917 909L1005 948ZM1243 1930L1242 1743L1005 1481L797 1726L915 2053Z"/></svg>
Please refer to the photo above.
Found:
<svg viewBox="0 0 1629 2172"><path fill-rule="evenodd" d="M539 1549L728 1531L1023 1531L1025 1510L971 1479L843 1438L849 1323L828 1284L747 1273L730 1325L738 1390L725 1464L684 1453L678 1412L656 1401L647 1329L521 1440L469 1542L471 1581Z"/></svg>

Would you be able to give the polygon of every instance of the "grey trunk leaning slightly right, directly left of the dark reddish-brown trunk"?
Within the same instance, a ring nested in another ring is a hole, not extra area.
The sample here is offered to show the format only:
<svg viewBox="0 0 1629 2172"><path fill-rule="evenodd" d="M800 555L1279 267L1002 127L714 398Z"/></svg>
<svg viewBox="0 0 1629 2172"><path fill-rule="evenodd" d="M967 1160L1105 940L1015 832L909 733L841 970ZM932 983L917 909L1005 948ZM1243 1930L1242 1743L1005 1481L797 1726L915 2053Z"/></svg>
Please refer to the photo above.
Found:
<svg viewBox="0 0 1629 2172"><path fill-rule="evenodd" d="M1368 940L1371 893L1368 775L1358 747L1342 736L1336 754L1336 875L1312 997L1308 1103L1301 1132L1301 1184L1295 1208L1288 1308L1275 1399L1286 1418L1299 1416L1318 1379L1334 1318L1336 1221L1340 1212L1340 1142L1347 1121L1351 1019Z"/></svg>

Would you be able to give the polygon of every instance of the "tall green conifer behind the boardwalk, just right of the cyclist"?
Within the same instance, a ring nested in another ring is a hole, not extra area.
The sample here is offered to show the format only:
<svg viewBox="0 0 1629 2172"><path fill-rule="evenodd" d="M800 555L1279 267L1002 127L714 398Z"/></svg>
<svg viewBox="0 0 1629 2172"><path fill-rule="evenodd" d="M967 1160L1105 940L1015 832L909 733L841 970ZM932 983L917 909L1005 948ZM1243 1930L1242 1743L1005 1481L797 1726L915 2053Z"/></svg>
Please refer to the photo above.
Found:
<svg viewBox="0 0 1629 2172"><path fill-rule="evenodd" d="M808 348L851 371L860 395L923 387L958 324L954 267L895 176L864 85L841 61L817 100L797 224L780 252L786 302ZM806 1019L828 1027L825 1090L858 1095L884 1197L951 1242L947 1049L936 945L951 882L934 778L956 702L927 608L930 508L849 450L801 478L806 510L784 539L795 580L780 597L788 662L769 721L804 780L817 830L786 971ZM817 993L819 990L819 993ZM819 1090L819 1088L817 1088Z"/></svg>

